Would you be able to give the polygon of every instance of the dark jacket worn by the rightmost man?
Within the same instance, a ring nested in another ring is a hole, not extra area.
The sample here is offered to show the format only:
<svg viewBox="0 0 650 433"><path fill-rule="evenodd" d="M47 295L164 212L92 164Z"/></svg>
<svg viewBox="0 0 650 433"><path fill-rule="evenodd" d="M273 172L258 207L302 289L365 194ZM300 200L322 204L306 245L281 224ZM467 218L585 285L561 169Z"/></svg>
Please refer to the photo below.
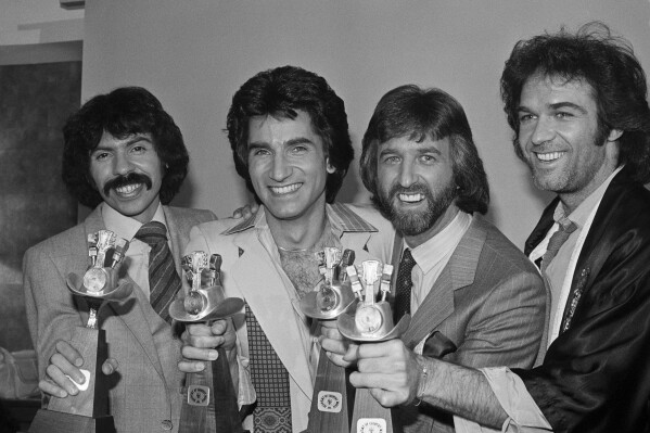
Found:
<svg viewBox="0 0 650 433"><path fill-rule="evenodd" d="M526 251L552 226L557 203ZM650 192L625 168L585 239L563 324L541 366L513 370L553 431L650 432Z"/></svg>

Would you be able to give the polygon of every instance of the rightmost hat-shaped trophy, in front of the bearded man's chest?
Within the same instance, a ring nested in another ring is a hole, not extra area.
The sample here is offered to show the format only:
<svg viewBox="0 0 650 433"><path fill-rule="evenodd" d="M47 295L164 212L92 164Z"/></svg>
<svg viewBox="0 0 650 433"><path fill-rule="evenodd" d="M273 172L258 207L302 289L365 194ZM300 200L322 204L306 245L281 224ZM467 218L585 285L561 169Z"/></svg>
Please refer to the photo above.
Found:
<svg viewBox="0 0 650 433"><path fill-rule="evenodd" d="M410 324L410 316L404 315L397 326L393 323L391 306L386 295L391 292L392 265L383 265L377 260L361 263L361 275L354 266L347 267L353 292L358 297L356 308L351 308L339 316L339 331L348 340L359 343L372 343L399 338ZM379 288L377 286L379 285ZM375 301L375 292L380 292L380 301ZM352 429L354 433L365 432L400 432L402 428L394 422L391 409L382 407L370 394L370 390L358 389L353 411Z"/></svg>

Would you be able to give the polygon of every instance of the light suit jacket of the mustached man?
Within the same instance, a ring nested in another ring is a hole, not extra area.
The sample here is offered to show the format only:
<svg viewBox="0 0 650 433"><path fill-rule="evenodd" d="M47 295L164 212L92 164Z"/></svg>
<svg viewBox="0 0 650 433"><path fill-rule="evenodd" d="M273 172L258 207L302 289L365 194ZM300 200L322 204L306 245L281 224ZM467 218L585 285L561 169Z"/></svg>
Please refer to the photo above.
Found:
<svg viewBox="0 0 650 433"><path fill-rule="evenodd" d="M212 212L163 207L176 270L190 228L215 219ZM100 207L78 226L52 237L25 253L23 263L27 321L38 354L39 375L46 375L58 340L71 340L73 329L88 320L84 300L73 297L65 278L82 276L88 268L88 234L104 229ZM120 269L125 275L126 269ZM128 276L126 277L128 278ZM153 310L142 291L100 313L106 331L109 357L119 365L109 377L110 410L118 432L160 432L170 420L178 431L183 373L178 370L180 341L171 327Z"/></svg>

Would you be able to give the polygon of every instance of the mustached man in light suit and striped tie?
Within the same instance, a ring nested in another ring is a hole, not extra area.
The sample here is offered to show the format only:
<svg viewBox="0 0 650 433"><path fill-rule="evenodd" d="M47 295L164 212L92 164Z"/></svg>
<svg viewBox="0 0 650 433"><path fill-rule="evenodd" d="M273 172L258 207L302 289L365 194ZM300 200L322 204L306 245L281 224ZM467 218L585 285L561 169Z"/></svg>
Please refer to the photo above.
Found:
<svg viewBox="0 0 650 433"><path fill-rule="evenodd" d="M187 175L189 157L179 128L145 89L119 88L92 98L67 120L63 132L63 180L81 204L94 211L84 222L25 254L25 301L38 353L39 386L65 398L78 393L69 378L85 382L79 369L84 359L69 340L74 328L86 324L89 309L84 300L71 295L65 279L71 272L85 273L88 234L107 229L130 241L120 282L133 284L126 301L111 304L100 317L109 345L102 370L110 374L115 428L178 431L183 374L177 368L180 341L166 320L167 306L180 288L179 257L191 227L216 218L207 211L167 206ZM171 254L163 262L173 283L160 293L161 315L150 304L152 246L139 239L140 229L152 221L163 233L166 227L166 234L161 234L166 241L154 247Z"/></svg>

